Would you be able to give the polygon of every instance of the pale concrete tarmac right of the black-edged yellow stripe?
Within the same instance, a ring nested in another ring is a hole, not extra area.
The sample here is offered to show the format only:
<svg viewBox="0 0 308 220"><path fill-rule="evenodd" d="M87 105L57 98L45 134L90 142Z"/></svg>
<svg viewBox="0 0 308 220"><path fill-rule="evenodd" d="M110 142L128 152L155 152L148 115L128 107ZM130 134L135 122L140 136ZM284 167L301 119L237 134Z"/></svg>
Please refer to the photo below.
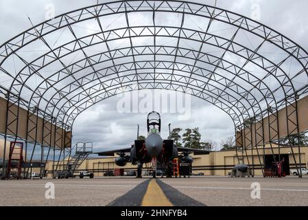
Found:
<svg viewBox="0 0 308 220"><path fill-rule="evenodd" d="M307 176L191 177L163 181L206 206L308 206ZM251 197L253 182L260 184L260 199Z"/></svg>

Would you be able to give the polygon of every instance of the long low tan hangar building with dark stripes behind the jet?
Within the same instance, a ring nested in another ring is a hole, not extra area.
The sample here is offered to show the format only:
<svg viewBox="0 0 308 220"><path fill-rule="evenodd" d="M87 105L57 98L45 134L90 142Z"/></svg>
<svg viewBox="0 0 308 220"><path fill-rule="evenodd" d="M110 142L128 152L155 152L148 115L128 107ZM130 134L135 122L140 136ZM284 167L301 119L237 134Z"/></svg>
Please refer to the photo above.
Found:
<svg viewBox="0 0 308 220"><path fill-rule="evenodd" d="M272 151L273 149L273 151ZM229 175L232 168L239 163L244 163L250 165L251 173L253 175L263 175L263 165L265 164L265 168L270 168L272 162L274 162L274 157L276 161L279 161L279 151L281 159L284 159L283 168L287 175L292 175L289 173L290 169L296 169L295 161L299 161L299 153L298 148L293 149L294 154L292 154L291 147L281 147L278 146L270 147L266 146L263 148L256 148L253 151L250 149L248 151L243 151L236 153L235 150L231 151L213 151L209 153L209 155L191 155L193 157L193 174L203 173L204 175L217 175L224 176ZM247 156L246 156L247 153ZM242 155L242 156L241 156ZM274 156L273 156L274 155ZM294 156L293 156L294 155ZM80 165L77 171L87 170L91 173L94 173L96 177L103 176L108 170L115 170L116 168L123 168L126 173L128 170L137 170L137 166L133 166L130 163L126 164L126 166L117 166L115 164L115 158L117 155L113 157L88 157L88 159L84 160L84 162ZM300 157L302 162L302 167L308 167L308 146L300 147ZM58 165L58 170L62 170L66 162L60 161L55 164ZM51 177L52 166L54 166L53 162L48 162L46 169L48 170L48 175ZM297 164L299 168L299 164ZM143 170L146 172L147 168L150 168L150 164L144 164ZM56 169L56 168L55 168Z"/></svg>

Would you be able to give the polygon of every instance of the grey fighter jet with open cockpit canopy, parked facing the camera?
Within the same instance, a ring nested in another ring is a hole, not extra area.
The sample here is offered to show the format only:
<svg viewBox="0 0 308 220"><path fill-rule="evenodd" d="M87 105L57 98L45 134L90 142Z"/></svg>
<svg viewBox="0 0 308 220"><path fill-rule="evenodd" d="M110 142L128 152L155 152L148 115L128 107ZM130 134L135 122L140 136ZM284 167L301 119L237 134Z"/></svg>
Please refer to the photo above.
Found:
<svg viewBox="0 0 308 220"><path fill-rule="evenodd" d="M139 132L138 132L139 133ZM139 135L137 135L138 137ZM117 166L126 166L128 162L137 165L137 177L141 177L143 164L152 162L153 177L156 177L156 168L159 163L167 168L167 177L171 177L173 159L178 157L180 162L192 164L193 158L189 153L209 154L209 151L177 147L171 139L163 140L161 137L161 115L152 111L147 115L147 137L145 140L134 140L130 148L121 148L112 151L103 151L99 156L113 156Z"/></svg>

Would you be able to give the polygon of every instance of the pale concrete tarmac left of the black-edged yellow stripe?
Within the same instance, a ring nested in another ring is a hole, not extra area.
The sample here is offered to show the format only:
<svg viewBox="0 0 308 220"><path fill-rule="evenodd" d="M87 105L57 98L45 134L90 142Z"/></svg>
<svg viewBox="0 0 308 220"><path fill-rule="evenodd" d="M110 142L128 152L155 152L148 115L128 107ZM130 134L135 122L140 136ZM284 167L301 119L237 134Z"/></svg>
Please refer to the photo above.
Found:
<svg viewBox="0 0 308 220"><path fill-rule="evenodd" d="M0 206L106 206L145 179L25 179L0 181ZM45 199L45 184L55 184L55 199Z"/></svg>

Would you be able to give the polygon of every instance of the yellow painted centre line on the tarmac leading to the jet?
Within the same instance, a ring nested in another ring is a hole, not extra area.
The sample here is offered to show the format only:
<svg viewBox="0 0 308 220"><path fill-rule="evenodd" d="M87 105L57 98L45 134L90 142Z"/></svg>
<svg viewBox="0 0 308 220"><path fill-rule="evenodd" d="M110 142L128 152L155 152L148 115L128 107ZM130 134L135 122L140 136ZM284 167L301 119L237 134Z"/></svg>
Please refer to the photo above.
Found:
<svg viewBox="0 0 308 220"><path fill-rule="evenodd" d="M165 193L156 183L156 179L151 179L147 186L147 191L143 197L141 206L173 206L167 199Z"/></svg>

